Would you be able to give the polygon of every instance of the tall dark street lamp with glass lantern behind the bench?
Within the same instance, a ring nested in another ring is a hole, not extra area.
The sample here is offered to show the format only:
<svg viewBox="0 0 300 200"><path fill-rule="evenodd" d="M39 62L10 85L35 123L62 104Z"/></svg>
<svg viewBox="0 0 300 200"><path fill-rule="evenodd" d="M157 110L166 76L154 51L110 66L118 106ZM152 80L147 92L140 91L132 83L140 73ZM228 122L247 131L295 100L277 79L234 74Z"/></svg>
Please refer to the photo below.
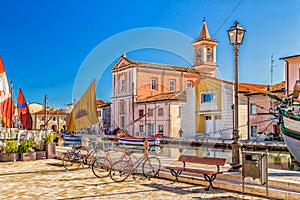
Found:
<svg viewBox="0 0 300 200"><path fill-rule="evenodd" d="M233 143L232 143L232 171L234 169L240 168L240 144L239 140L239 112L238 112L238 51L239 46L243 43L244 35L246 30L239 26L237 21L234 22L234 26L232 26L228 31L228 37L230 40L230 44L234 48L234 130L233 130ZM236 167L236 168L234 168Z"/></svg>

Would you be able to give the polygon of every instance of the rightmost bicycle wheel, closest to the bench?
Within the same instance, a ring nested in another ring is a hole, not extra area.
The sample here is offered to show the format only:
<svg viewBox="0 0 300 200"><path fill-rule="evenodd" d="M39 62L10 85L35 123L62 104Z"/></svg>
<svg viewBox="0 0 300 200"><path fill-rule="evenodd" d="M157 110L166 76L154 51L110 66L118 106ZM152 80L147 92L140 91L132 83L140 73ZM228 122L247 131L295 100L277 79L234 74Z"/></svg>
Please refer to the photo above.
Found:
<svg viewBox="0 0 300 200"><path fill-rule="evenodd" d="M149 157L142 166L143 175L147 178L153 178L158 175L161 164L157 157Z"/></svg>

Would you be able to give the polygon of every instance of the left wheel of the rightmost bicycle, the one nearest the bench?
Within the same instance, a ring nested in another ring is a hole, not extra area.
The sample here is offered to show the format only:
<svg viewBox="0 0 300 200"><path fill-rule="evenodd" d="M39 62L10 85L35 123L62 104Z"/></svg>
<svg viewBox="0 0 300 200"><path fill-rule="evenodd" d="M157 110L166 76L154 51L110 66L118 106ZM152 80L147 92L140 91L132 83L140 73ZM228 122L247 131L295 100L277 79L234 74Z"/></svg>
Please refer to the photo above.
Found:
<svg viewBox="0 0 300 200"><path fill-rule="evenodd" d="M110 178L115 182L124 181L130 174L131 166L132 165L125 160L115 162L111 167Z"/></svg>

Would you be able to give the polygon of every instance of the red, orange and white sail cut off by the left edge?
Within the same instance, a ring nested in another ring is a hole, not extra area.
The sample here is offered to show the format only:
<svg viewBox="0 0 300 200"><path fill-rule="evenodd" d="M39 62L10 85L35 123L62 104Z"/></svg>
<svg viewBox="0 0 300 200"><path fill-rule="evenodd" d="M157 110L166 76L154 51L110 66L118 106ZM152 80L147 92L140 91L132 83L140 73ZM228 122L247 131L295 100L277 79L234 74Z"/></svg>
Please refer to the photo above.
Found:
<svg viewBox="0 0 300 200"><path fill-rule="evenodd" d="M14 114L14 104L12 101L11 88L8 84L4 64L0 56L0 113L3 126L12 127L12 116Z"/></svg>

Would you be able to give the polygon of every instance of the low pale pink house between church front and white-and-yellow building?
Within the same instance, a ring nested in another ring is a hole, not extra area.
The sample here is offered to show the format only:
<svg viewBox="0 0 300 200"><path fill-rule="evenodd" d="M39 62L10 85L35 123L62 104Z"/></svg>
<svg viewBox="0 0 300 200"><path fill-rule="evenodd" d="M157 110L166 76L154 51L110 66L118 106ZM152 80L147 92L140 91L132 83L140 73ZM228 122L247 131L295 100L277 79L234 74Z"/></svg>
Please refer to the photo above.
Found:
<svg viewBox="0 0 300 200"><path fill-rule="evenodd" d="M169 137L179 137L181 105L185 102L185 92L158 94L139 100L135 104L135 135L154 136L157 133Z"/></svg>

